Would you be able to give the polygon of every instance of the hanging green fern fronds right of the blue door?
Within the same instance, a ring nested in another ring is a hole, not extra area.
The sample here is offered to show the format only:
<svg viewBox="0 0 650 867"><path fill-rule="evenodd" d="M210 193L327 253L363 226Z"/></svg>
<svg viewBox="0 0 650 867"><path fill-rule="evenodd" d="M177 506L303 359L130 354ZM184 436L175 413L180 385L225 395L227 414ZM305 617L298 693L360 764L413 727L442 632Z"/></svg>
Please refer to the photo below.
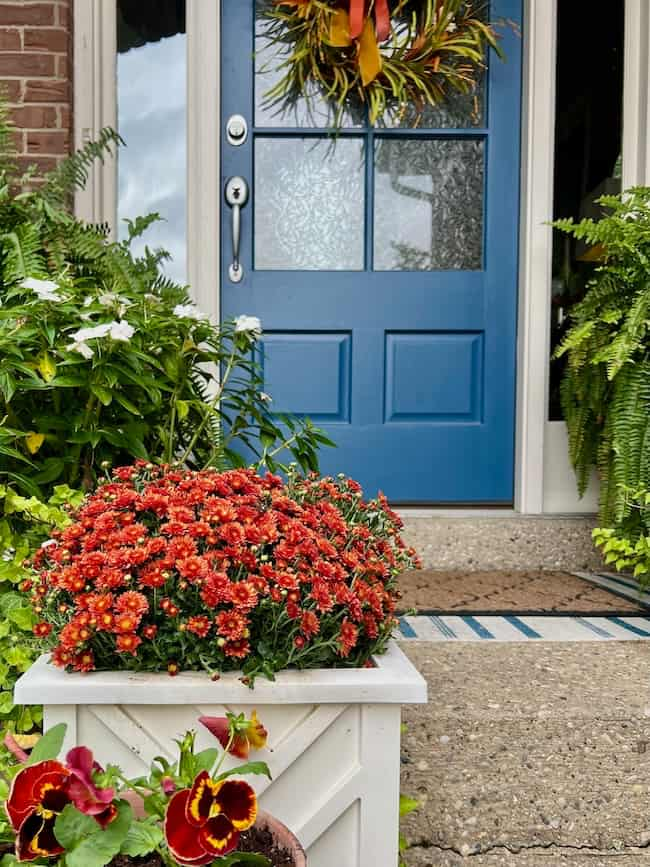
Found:
<svg viewBox="0 0 650 867"><path fill-rule="evenodd" d="M557 355L568 357L561 399L578 488L597 468L601 521L620 526L626 490L650 486L650 188L598 201L602 219L554 224L602 254Z"/></svg>

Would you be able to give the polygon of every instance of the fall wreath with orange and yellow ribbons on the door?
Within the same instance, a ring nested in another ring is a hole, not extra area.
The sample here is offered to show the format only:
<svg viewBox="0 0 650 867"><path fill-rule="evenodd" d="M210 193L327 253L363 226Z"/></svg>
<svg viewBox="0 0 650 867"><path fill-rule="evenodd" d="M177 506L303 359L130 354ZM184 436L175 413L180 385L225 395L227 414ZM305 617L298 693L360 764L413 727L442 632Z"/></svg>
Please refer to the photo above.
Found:
<svg viewBox="0 0 650 867"><path fill-rule="evenodd" d="M315 91L371 123L472 93L499 37L484 0L264 0L265 35L280 48L280 79L266 94L290 105Z"/></svg>

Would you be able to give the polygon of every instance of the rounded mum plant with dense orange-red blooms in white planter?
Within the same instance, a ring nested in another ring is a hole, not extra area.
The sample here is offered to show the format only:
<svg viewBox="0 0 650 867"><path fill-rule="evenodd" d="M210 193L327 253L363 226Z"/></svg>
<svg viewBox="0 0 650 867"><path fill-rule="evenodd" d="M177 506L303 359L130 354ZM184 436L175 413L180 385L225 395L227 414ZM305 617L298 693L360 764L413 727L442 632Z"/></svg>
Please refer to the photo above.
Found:
<svg viewBox="0 0 650 867"><path fill-rule="evenodd" d="M35 632L73 671L372 664L417 559L386 499L345 477L117 469L28 582Z"/></svg>

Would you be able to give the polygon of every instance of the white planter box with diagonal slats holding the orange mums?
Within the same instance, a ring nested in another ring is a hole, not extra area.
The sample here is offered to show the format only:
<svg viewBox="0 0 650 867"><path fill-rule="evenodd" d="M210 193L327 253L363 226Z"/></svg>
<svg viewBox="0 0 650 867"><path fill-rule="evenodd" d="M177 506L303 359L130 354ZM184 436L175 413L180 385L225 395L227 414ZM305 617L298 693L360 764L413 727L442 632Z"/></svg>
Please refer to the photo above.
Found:
<svg viewBox="0 0 650 867"><path fill-rule="evenodd" d="M269 782L254 783L265 810L307 849L309 867L397 864L400 705L427 700L424 679L391 642L375 668L285 671L250 690L235 673L66 674L41 657L16 684L19 704L43 704L45 728L67 723L65 748L90 747L128 776L154 756L175 756L173 739L197 730L197 717L256 708L269 732Z"/></svg>

